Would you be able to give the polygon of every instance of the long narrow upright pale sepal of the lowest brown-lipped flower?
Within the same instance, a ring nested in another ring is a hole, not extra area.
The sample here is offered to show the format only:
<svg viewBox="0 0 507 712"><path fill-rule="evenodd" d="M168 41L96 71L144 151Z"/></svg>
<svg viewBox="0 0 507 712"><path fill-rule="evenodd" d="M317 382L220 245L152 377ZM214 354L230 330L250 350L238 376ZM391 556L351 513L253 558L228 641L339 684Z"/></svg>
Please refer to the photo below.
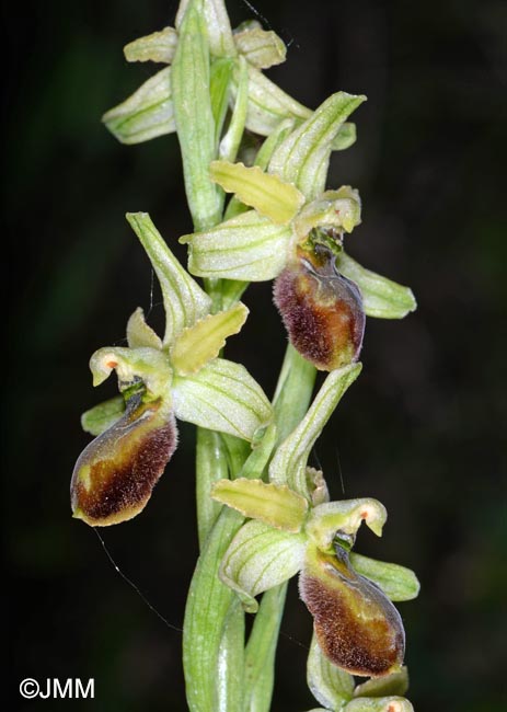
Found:
<svg viewBox="0 0 507 712"><path fill-rule="evenodd" d="M339 399L359 376L360 370L360 364L353 364L331 371L307 415L276 451L269 466L272 482L288 484L291 490L307 498L310 497L306 476L310 451Z"/></svg>

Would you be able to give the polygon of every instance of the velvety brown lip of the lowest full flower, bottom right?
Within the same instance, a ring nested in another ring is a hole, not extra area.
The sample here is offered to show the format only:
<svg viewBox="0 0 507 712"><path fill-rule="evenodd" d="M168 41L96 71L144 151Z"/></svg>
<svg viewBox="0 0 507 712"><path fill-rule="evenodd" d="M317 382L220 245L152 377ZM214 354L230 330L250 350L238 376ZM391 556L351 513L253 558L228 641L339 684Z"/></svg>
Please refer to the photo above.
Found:
<svg viewBox="0 0 507 712"><path fill-rule="evenodd" d="M400 613L376 584L353 570L344 549L336 551L333 556L312 549L299 579L319 645L352 675L395 673L405 653Z"/></svg>

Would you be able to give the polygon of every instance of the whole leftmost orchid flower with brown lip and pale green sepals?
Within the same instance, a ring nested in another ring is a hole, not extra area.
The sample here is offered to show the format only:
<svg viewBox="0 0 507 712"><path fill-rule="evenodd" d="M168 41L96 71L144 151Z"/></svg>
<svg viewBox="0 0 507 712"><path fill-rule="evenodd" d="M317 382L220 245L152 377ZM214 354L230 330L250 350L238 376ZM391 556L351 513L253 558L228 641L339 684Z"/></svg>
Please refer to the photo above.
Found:
<svg viewBox="0 0 507 712"><path fill-rule="evenodd" d="M83 415L97 437L79 457L71 482L74 517L117 524L143 509L177 441L175 418L252 440L272 406L246 369L219 358L242 328L241 302L210 313L211 299L185 272L147 214L127 219L159 278L165 309L160 338L141 309L127 324L128 346L104 347L90 361L99 386L115 370L120 395Z"/></svg>

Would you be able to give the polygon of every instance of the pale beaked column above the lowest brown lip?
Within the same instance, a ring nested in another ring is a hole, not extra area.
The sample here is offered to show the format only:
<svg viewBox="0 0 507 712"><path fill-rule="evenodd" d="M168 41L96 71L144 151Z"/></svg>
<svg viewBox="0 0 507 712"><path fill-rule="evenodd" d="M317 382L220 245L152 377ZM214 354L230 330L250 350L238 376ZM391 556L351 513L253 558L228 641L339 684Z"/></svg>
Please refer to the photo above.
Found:
<svg viewBox="0 0 507 712"><path fill-rule="evenodd" d="M367 497L325 502L310 512L306 532L320 551L334 553L333 543L336 532L355 536L361 521L378 537L388 518L385 507L378 499Z"/></svg>

